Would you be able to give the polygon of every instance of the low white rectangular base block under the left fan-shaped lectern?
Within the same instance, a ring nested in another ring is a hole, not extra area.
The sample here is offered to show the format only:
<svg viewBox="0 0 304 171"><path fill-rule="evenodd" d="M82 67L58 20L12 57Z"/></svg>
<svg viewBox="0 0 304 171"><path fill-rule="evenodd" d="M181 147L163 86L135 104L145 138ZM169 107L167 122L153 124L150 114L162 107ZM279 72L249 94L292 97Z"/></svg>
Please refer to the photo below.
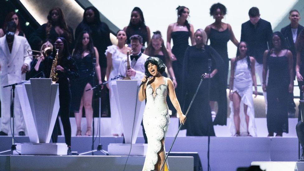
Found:
<svg viewBox="0 0 304 171"><path fill-rule="evenodd" d="M65 143L23 143L16 149L21 155L67 155L68 145ZM18 154L16 151L13 154Z"/></svg>

